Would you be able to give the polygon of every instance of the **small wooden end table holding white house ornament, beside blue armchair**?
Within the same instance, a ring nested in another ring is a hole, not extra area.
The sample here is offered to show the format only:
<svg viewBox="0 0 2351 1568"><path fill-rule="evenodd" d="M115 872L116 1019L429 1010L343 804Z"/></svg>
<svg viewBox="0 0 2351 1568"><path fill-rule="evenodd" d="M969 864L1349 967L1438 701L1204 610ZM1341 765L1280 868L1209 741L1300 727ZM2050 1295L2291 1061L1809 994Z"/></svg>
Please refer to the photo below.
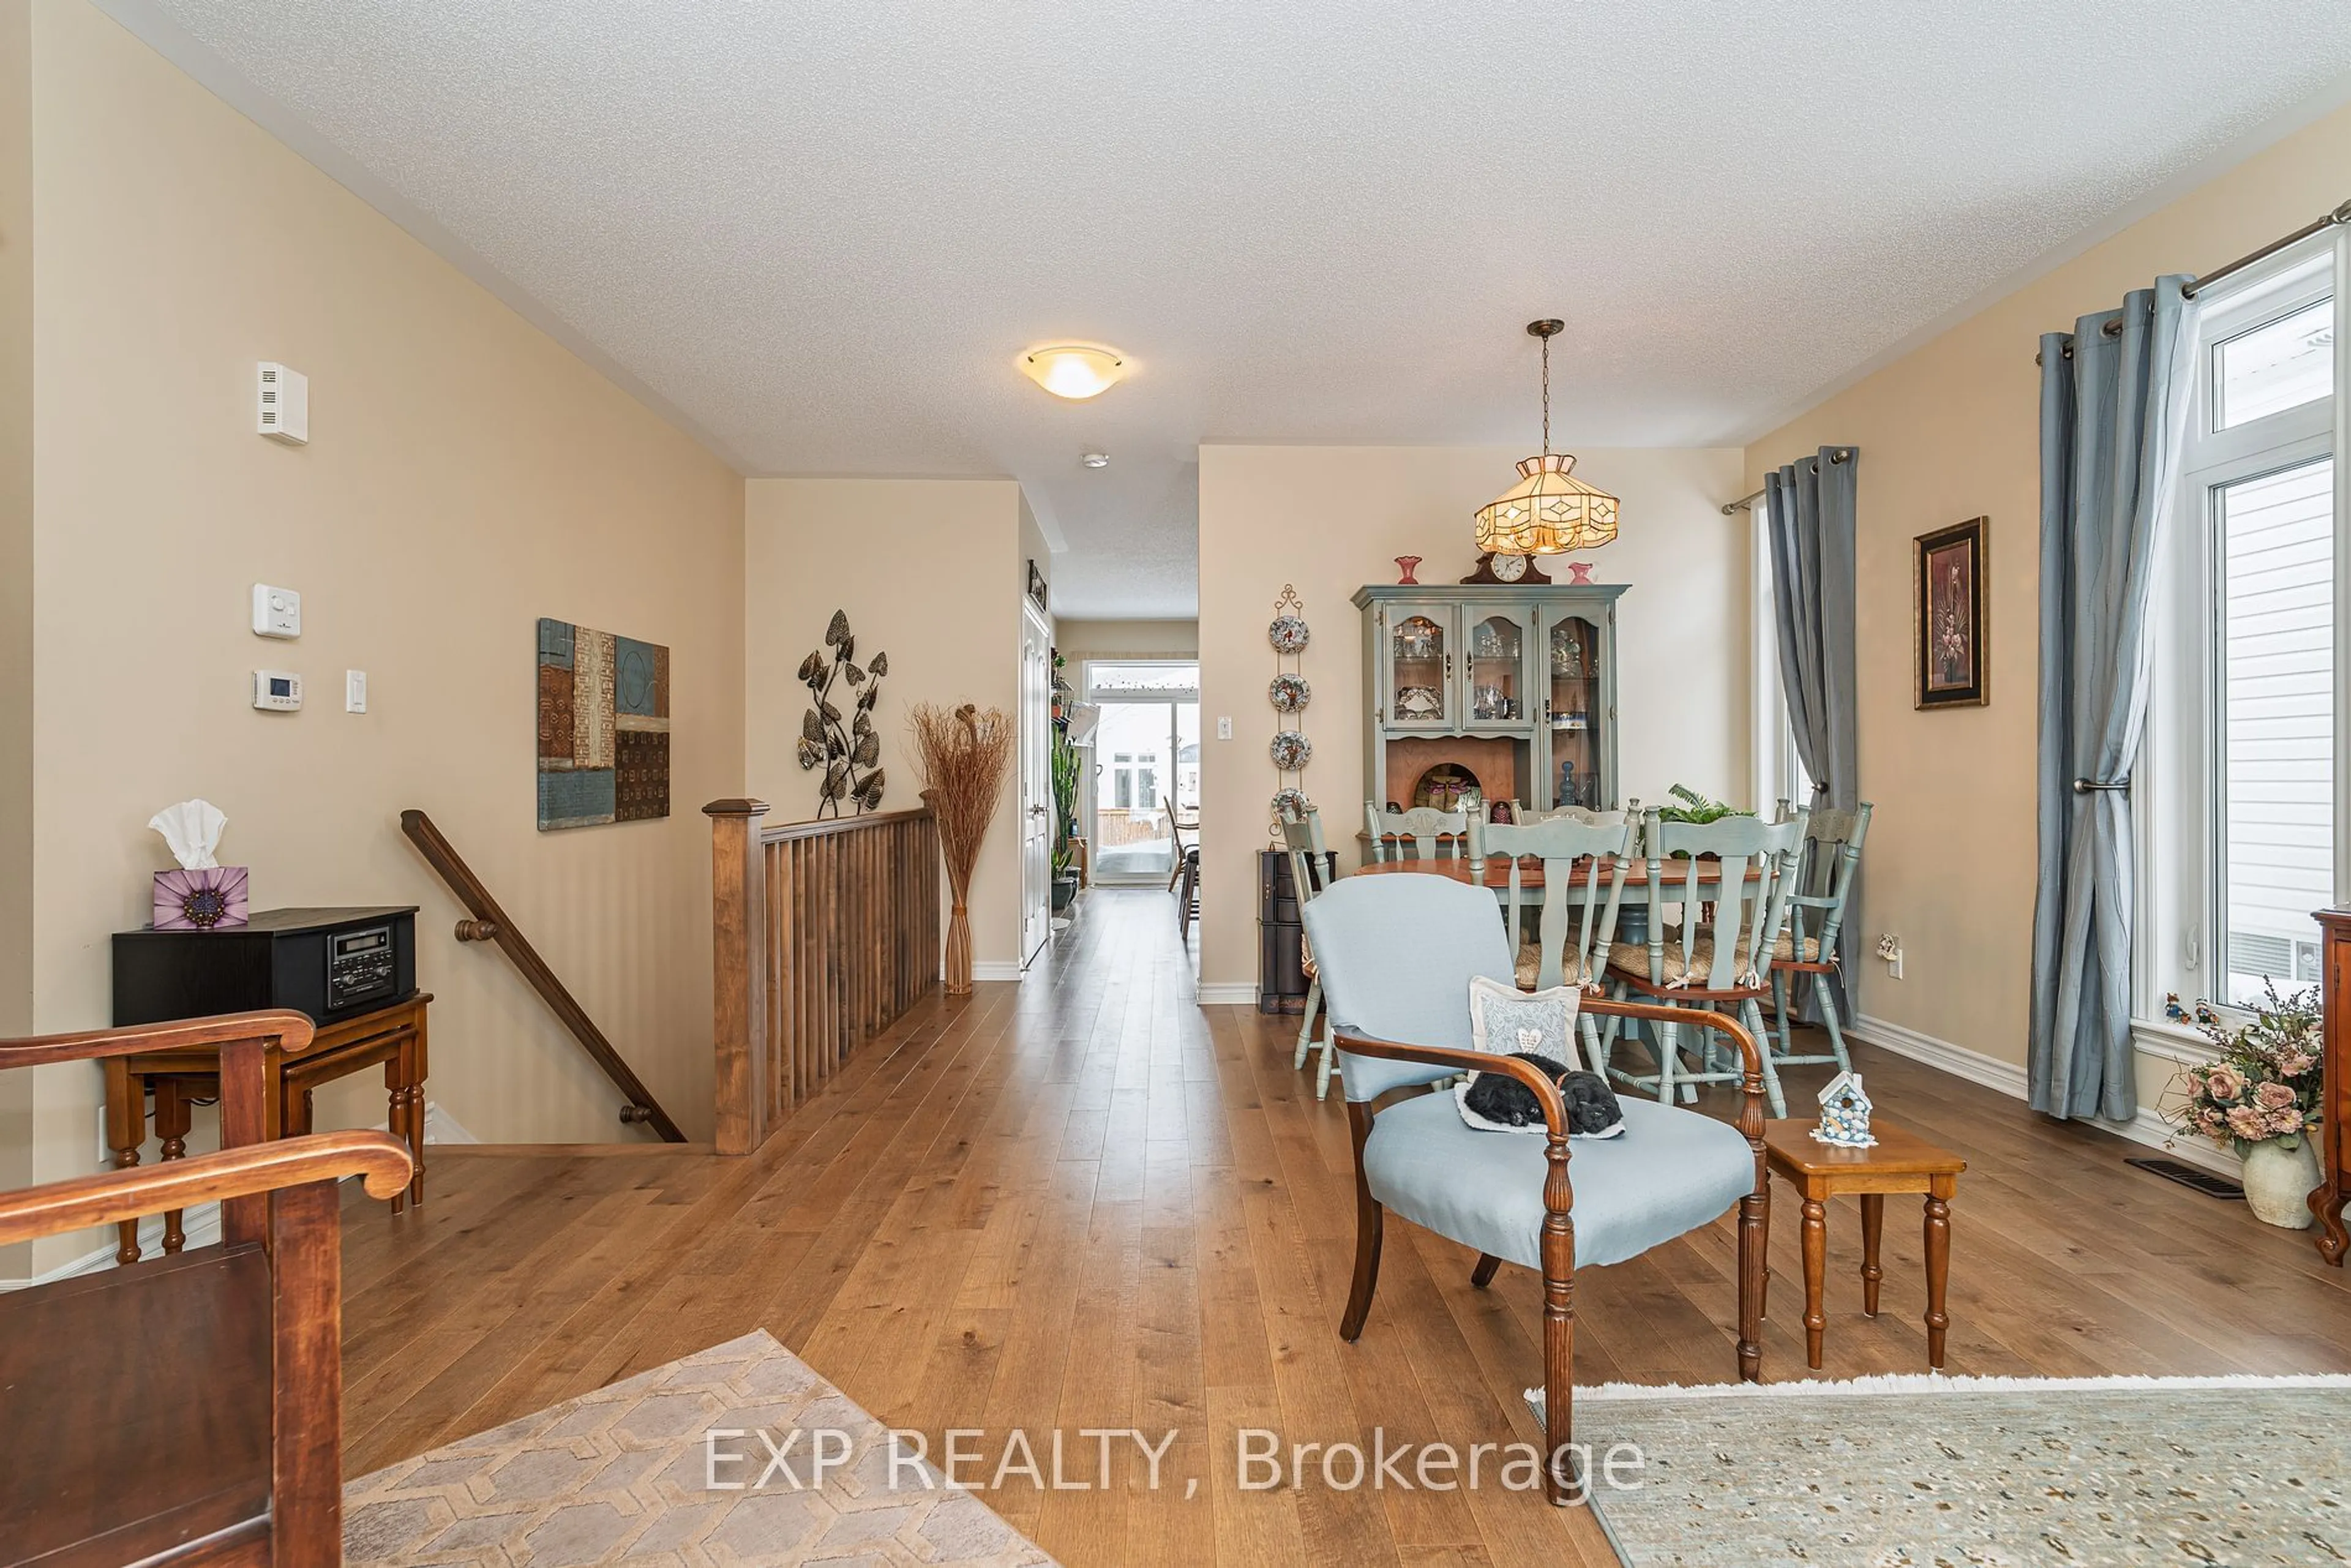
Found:
<svg viewBox="0 0 2351 1568"><path fill-rule="evenodd" d="M1820 1371L1820 1340L1829 1328L1822 1312L1822 1284L1829 1262L1829 1199L1862 1199L1862 1314L1878 1314L1878 1234L1886 1229L1888 1192L1925 1194L1925 1363L1942 1371L1942 1345L1951 1314L1942 1309L1951 1279L1951 1197L1968 1161L1940 1150L1918 1133L1871 1119L1876 1145L1843 1150L1813 1138L1813 1121L1766 1121L1763 1152L1770 1168L1803 1199L1803 1347L1806 1361Z"/></svg>

